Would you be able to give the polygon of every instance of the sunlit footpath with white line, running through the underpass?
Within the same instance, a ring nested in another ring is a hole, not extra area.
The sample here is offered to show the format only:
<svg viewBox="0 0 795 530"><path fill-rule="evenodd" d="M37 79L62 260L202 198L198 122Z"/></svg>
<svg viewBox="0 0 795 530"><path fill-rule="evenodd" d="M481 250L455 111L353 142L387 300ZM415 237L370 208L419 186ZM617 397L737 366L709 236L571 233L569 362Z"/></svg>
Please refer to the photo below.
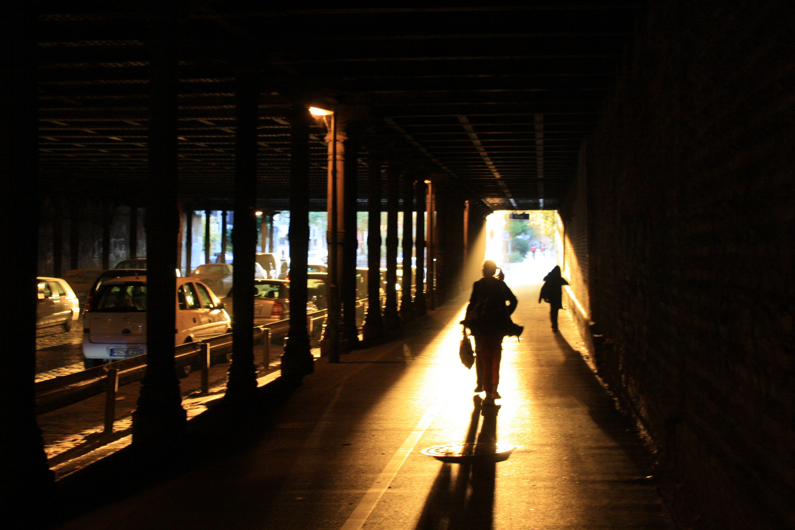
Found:
<svg viewBox="0 0 795 530"><path fill-rule="evenodd" d="M637 480L649 462L633 426L570 346L567 315L554 334L540 285L506 280L525 332L503 342L498 407L473 400L474 370L458 360L462 298L404 341L320 359L250 446L208 451L127 498L116 488L120 500L62 528L669 528ZM420 454L494 435L516 446L504 462Z"/></svg>

